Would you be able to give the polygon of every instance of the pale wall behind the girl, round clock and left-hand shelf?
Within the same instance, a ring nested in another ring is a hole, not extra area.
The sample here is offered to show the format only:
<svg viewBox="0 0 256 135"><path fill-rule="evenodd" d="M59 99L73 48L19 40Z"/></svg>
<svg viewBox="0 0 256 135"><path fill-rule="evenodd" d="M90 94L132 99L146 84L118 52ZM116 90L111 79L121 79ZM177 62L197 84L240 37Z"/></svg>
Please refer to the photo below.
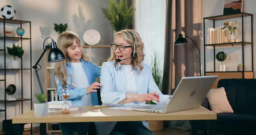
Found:
<svg viewBox="0 0 256 135"><path fill-rule="evenodd" d="M52 37L57 39L58 34L53 29L53 23L68 23L68 30L79 34L79 37L84 44L82 35L87 29L97 29L101 34L101 41L99 45L109 45L113 39L113 31L110 28L110 24L104 15L100 7L107 6L108 0L0 0L0 7L4 5L11 5L16 10L16 15L13 19L28 20L31 21L31 41L32 41L32 65L35 64L39 56L43 52L43 40L47 37ZM0 28L3 27L3 23L0 23ZM15 26L10 26L9 29L16 30ZM25 35L29 33L29 29L26 26ZM0 34L3 30L0 29ZM0 41L0 48L3 48L3 41ZM7 46L12 45L12 43L19 44L18 42L8 41ZM23 56L23 65L30 64L30 57L26 52L29 48L25 45L29 41L24 41L23 46L25 50L25 55ZM87 52L88 49L85 49ZM109 49L92 49L92 61L98 63L107 59L110 55ZM40 61L42 70L39 71L39 77L45 87L45 64L46 57ZM11 56L7 57L7 67L9 64L13 64L13 58ZM3 67L3 53L0 55L0 67ZM18 60L19 61L19 60ZM29 66L27 66L29 67ZM9 74L9 73L8 73ZM30 74L23 73L24 75L24 93L23 96L30 97ZM39 84L36 80L36 76L33 72L33 92L38 92ZM0 77L3 78L3 72L0 73ZM20 73L10 73L8 75L7 85L18 84L20 80ZM19 97L21 93L17 91L15 93L16 97ZM4 99L4 84L0 84L0 99ZM35 102L33 97L33 102ZM24 112L30 110L30 102L24 102ZM7 104L7 119L11 119L14 116L21 113L21 108L19 103L8 103ZM0 109L4 109L4 104L0 103ZM0 122L4 119L4 112L0 112ZM2 126L0 126L0 129Z"/></svg>

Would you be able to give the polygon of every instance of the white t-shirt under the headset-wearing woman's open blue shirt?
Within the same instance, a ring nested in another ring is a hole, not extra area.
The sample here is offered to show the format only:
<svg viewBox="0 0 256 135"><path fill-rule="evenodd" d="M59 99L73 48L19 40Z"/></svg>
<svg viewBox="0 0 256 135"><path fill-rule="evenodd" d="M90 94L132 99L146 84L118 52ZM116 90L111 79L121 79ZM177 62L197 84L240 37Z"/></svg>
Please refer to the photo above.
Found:
<svg viewBox="0 0 256 135"><path fill-rule="evenodd" d="M137 86L135 83L135 70L132 70L131 65L122 65L122 68L125 71L125 80L126 80L126 93L137 93ZM125 105L133 104L133 103L126 103Z"/></svg>

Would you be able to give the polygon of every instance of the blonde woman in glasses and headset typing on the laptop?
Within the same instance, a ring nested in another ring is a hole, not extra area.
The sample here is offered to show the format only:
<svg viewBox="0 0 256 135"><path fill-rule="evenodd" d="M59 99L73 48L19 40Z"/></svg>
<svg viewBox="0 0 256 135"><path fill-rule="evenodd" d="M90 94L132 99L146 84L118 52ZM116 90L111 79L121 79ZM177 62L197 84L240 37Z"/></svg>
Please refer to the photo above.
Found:
<svg viewBox="0 0 256 135"><path fill-rule="evenodd" d="M151 68L142 63L144 43L131 29L116 33L111 44L113 56L102 64L101 100L103 104L168 103L155 84ZM106 135L153 135L148 122L108 122Z"/></svg>

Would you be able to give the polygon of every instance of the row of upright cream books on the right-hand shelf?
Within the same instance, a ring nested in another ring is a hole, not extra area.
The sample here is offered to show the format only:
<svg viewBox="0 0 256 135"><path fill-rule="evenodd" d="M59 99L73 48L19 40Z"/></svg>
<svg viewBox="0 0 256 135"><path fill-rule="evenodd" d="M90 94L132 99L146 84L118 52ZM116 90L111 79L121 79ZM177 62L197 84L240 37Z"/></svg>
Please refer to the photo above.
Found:
<svg viewBox="0 0 256 135"><path fill-rule="evenodd" d="M209 28L209 44L227 43L229 40L229 33L225 29Z"/></svg>

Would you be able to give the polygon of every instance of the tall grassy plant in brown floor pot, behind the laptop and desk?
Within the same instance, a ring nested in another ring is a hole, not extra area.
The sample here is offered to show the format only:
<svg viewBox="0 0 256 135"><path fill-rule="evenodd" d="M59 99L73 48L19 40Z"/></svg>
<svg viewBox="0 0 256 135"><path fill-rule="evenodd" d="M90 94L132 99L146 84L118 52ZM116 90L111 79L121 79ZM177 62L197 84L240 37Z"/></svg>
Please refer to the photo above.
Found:
<svg viewBox="0 0 256 135"><path fill-rule="evenodd" d="M160 66L160 59L158 58L158 55L156 51L154 51L154 58L151 61L151 71L153 75L153 79L155 83L158 85L159 89L162 89L162 75L163 75L163 70ZM152 101L147 102L146 104L155 104ZM149 121L148 122L149 129L151 131L161 131L164 129L164 121Z"/></svg>

